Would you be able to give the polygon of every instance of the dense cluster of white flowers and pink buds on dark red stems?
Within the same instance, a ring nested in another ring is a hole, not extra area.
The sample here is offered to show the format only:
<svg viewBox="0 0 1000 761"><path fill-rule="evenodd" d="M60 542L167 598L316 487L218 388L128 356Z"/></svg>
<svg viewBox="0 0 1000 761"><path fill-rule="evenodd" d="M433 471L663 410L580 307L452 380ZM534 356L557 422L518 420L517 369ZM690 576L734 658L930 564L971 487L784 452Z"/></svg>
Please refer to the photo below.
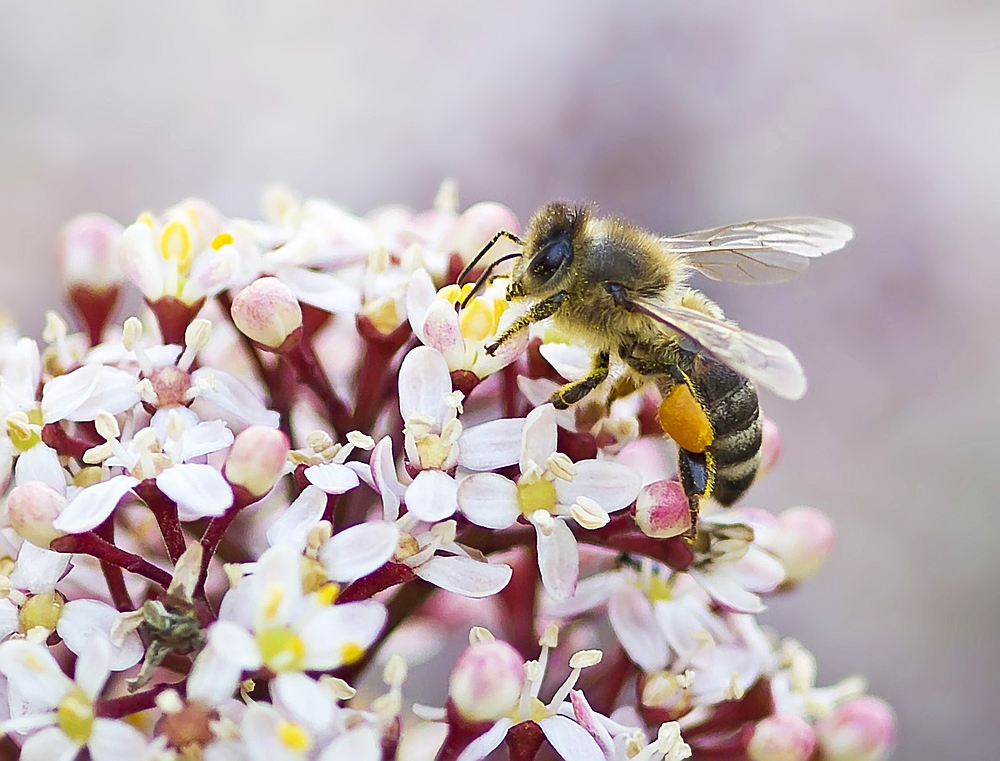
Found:
<svg viewBox="0 0 1000 761"><path fill-rule="evenodd" d="M262 217L81 216L79 332L0 330L0 731L23 758L887 755L891 709L817 687L756 618L829 520L706 504L693 527L655 389L557 410L575 337L487 351L518 307L502 276L457 280L508 209L274 188ZM767 423L761 472L778 448Z"/></svg>

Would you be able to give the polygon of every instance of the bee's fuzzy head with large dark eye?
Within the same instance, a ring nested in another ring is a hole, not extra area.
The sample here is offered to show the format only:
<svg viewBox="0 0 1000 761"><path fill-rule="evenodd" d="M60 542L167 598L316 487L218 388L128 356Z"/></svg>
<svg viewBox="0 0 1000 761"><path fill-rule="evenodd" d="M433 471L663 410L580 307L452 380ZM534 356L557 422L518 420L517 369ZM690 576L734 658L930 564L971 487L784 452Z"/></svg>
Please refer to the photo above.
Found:
<svg viewBox="0 0 1000 761"><path fill-rule="evenodd" d="M560 201L543 206L526 230L523 255L511 273L507 298L547 296L562 289L573 262L573 238L587 209Z"/></svg>

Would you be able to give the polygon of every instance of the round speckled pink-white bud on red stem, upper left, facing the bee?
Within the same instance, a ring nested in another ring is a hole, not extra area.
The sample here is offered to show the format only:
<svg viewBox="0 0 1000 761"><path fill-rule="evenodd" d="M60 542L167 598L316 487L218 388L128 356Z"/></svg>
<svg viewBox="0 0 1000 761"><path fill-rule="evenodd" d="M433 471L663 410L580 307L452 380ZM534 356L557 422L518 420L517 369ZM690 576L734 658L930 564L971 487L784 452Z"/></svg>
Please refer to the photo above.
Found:
<svg viewBox="0 0 1000 761"><path fill-rule="evenodd" d="M233 322L262 348L286 350L298 343L302 307L292 289L276 277L262 277L236 294Z"/></svg>

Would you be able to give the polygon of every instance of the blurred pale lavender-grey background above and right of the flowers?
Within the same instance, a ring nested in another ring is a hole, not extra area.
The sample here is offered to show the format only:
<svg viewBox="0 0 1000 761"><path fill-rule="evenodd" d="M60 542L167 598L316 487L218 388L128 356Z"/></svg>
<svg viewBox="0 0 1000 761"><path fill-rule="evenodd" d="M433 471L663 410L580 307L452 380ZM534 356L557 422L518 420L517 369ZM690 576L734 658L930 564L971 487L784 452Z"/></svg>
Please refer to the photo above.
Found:
<svg viewBox="0 0 1000 761"><path fill-rule="evenodd" d="M831 513L769 618L900 716L896 757L991 758L1000 683L1000 6L319 0L0 9L0 305L37 336L54 244L280 180L356 212L591 199L663 232L820 214L856 241L704 284L811 380L748 502ZM989 220L994 220L990 223Z"/></svg>

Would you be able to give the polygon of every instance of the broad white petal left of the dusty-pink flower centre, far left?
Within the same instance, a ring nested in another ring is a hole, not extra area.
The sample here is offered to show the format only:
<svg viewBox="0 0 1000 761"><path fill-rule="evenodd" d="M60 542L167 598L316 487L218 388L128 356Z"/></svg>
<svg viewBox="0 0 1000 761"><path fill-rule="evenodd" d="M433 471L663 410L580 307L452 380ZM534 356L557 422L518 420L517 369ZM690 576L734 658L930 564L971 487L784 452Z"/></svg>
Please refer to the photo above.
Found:
<svg viewBox="0 0 1000 761"><path fill-rule="evenodd" d="M117 415L139 402L134 391L137 373L116 367L89 364L53 378L42 389L42 415L46 423L58 420L93 420L98 412Z"/></svg>

